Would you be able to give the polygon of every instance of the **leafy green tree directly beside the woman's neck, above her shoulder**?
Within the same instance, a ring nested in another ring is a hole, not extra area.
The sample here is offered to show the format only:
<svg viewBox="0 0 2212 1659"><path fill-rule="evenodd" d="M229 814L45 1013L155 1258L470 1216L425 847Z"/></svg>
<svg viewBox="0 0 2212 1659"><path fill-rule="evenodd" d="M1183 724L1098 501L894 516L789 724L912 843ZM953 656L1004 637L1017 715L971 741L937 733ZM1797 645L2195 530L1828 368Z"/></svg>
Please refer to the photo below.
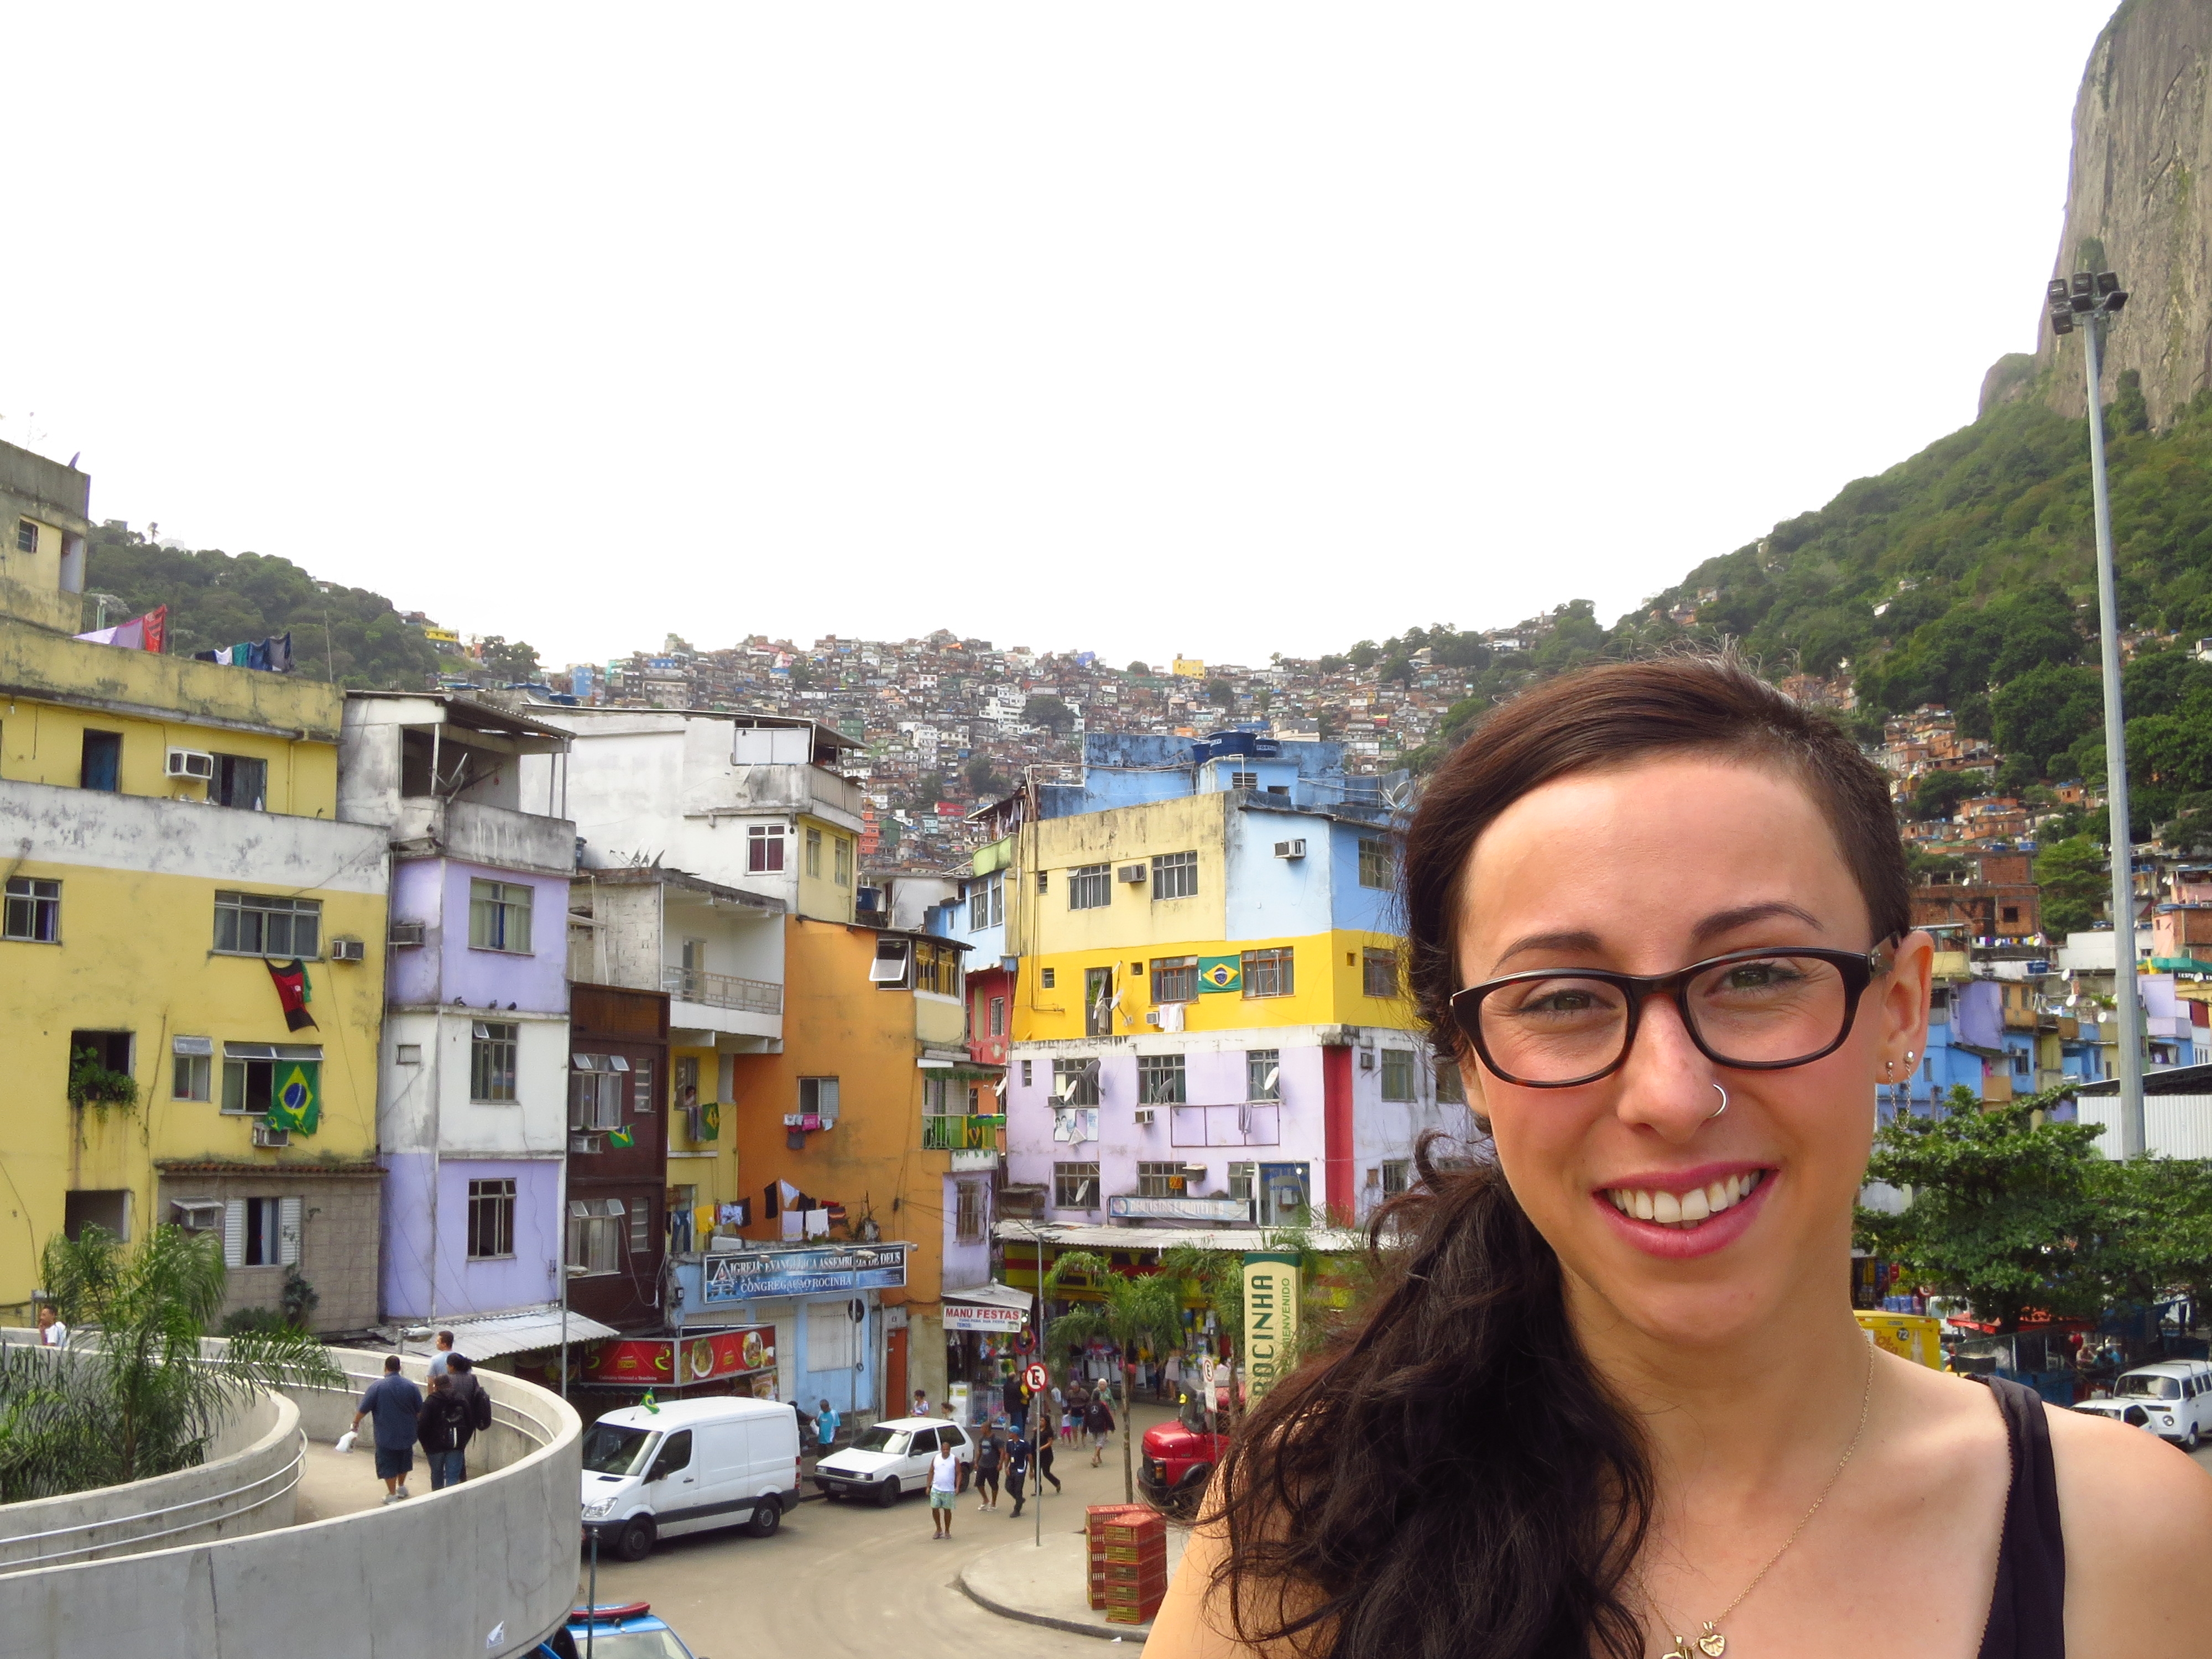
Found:
<svg viewBox="0 0 2212 1659"><path fill-rule="evenodd" d="M2000 1332L2028 1310L2104 1310L2095 1124L2037 1117L2062 1091L1980 1106L1953 1088L1942 1117L1900 1115L1874 1137L1869 1181L1911 1194L1902 1214L1858 1212L1858 1241L1913 1283L1964 1296Z"/></svg>

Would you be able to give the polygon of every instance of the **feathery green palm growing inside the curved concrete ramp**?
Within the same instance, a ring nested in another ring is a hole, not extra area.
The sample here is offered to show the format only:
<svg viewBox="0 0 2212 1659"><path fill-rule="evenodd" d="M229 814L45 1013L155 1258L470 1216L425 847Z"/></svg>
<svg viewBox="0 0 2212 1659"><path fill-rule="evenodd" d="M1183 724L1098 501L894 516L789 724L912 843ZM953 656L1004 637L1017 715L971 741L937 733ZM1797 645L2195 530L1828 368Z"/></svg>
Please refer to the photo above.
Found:
<svg viewBox="0 0 2212 1659"><path fill-rule="evenodd" d="M137 1250L106 1228L49 1239L46 1287L84 1358L66 1374L77 1411L100 1422L106 1469L86 1484L122 1484L197 1464L223 1420L261 1389L341 1387L343 1371L299 1329L201 1338L223 1307L215 1234L155 1228ZM13 1409L0 1376L0 1409ZM35 1391L20 1396L27 1405ZM66 1433L49 1431L60 1449ZM82 1471L80 1471L82 1473ZM82 1489L82 1486L80 1486Z"/></svg>

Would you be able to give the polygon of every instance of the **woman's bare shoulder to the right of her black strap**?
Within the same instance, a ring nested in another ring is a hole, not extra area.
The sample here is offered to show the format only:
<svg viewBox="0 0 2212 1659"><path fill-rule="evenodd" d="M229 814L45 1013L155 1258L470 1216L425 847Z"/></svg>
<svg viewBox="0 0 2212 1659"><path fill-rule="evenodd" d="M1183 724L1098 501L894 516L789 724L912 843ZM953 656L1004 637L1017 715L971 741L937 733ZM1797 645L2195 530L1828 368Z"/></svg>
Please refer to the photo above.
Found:
<svg viewBox="0 0 2212 1659"><path fill-rule="evenodd" d="M2066 1652L2188 1652L2212 1599L2212 1471L2179 1447L2044 1407L2066 1537Z"/></svg>

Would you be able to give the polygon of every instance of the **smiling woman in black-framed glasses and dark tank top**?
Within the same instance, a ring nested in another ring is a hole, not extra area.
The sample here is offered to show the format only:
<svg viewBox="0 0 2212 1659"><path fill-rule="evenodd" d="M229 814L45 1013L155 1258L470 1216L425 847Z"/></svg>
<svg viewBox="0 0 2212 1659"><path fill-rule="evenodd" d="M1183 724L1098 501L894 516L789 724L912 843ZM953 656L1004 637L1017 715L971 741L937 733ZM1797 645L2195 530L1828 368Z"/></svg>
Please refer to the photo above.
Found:
<svg viewBox="0 0 2212 1659"><path fill-rule="evenodd" d="M1931 945L1849 739L1728 661L1564 677L1438 772L1402 880L1493 1157L1422 1148L1374 1301L1254 1409L1148 1652L2192 1646L2199 1469L1851 1318Z"/></svg>

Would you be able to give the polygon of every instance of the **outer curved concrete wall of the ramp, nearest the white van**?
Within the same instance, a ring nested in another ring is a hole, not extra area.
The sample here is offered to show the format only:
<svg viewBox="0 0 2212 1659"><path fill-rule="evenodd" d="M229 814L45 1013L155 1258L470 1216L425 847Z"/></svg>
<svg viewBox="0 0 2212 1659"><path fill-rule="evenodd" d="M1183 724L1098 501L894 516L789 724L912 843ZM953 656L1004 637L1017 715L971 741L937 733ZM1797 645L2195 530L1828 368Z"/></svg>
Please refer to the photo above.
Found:
<svg viewBox="0 0 2212 1659"><path fill-rule="evenodd" d="M316 1440L352 1420L354 1394L383 1371L376 1354L332 1358L349 1387L294 1396ZM420 1380L425 1365L407 1374ZM484 1478L310 1526L0 1573L0 1659L529 1652L575 1597L582 1422L546 1389L476 1376L493 1400Z"/></svg>

